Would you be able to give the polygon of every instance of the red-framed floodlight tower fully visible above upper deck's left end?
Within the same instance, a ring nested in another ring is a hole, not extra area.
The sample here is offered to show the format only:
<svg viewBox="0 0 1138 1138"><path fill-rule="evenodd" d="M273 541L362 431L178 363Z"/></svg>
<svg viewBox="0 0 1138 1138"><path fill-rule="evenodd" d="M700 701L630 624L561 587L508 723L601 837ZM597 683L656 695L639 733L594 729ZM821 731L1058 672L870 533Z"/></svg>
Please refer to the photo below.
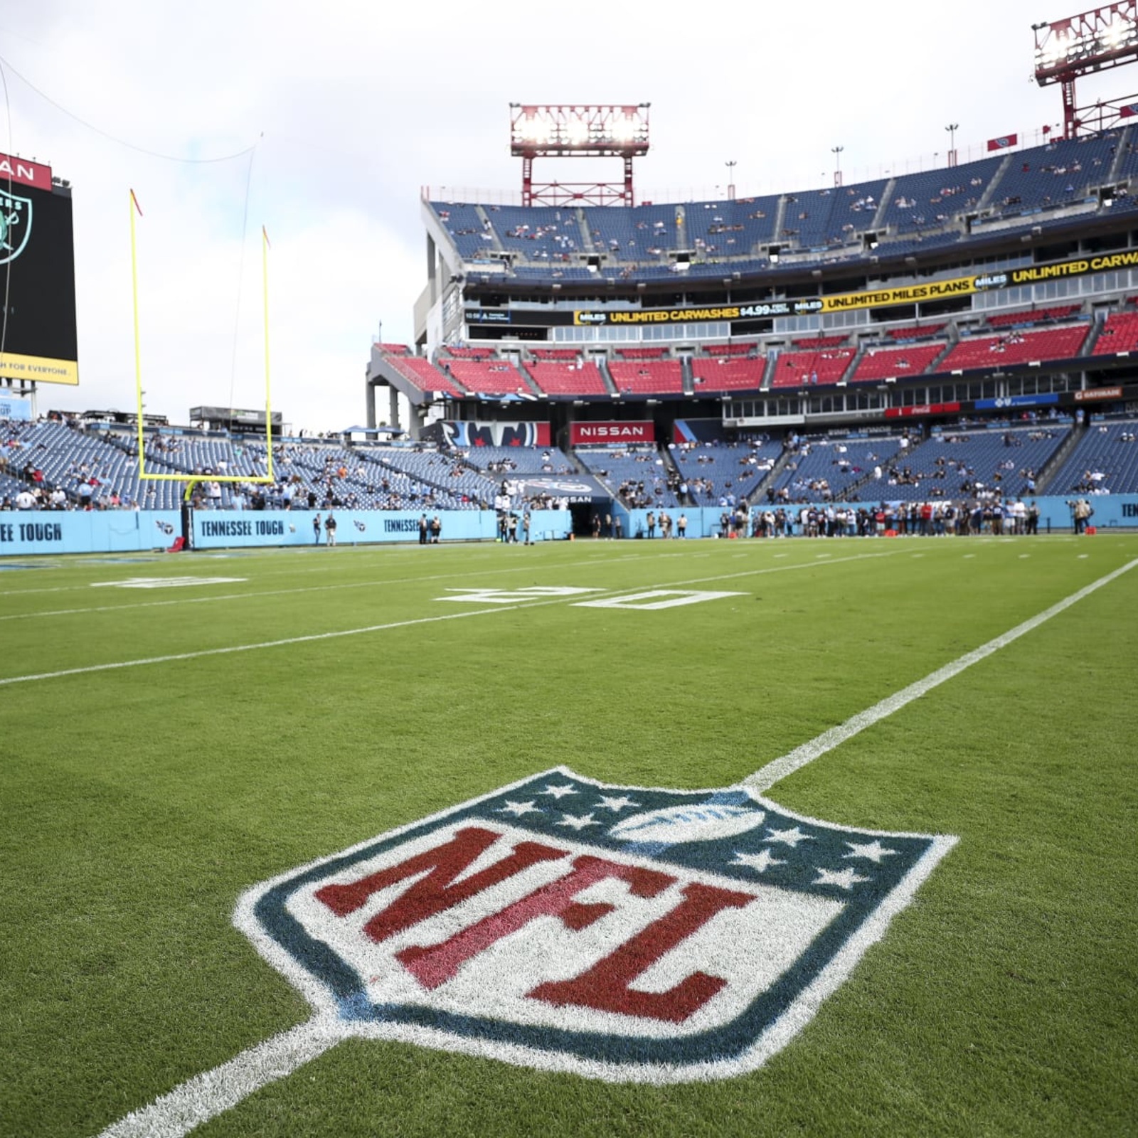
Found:
<svg viewBox="0 0 1138 1138"><path fill-rule="evenodd" d="M635 205L633 158L648 154L649 102L622 105L510 104L510 154L521 158L521 204ZM619 182L534 184L535 158L621 158Z"/></svg>

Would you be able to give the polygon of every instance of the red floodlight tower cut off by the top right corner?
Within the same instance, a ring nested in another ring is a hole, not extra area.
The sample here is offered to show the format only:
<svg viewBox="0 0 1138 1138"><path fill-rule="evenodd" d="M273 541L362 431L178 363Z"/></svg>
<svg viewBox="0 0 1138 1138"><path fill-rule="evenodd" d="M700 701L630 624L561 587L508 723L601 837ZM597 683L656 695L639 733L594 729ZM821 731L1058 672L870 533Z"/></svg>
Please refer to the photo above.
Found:
<svg viewBox="0 0 1138 1138"><path fill-rule="evenodd" d="M1122 67L1138 59L1138 0L1115 0L1079 16L1032 24L1036 33L1036 82L1058 83L1063 91L1063 137L1073 139L1114 126L1138 114L1136 97L1079 107L1080 75Z"/></svg>

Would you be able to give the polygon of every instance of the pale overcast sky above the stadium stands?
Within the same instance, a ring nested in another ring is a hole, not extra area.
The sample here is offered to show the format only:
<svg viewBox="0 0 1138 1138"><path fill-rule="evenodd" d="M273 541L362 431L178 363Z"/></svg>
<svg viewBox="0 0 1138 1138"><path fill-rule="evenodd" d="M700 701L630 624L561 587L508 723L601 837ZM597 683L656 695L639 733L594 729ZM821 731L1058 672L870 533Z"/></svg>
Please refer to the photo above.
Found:
<svg viewBox="0 0 1138 1138"><path fill-rule="evenodd" d="M147 410L187 422L197 404L264 406L264 225L274 410L339 429L363 420L379 322L385 340L412 337L420 188L518 192L510 102L651 102L642 198L724 195L728 160L741 197L825 184L835 146L852 182L943 162L948 123L962 162L1058 123L1058 89L1031 82L1031 25L1083 8L6 6L0 150L74 187L80 386L41 386L40 410L133 406L131 187ZM1136 80L1083 81L1081 100ZM552 162L536 174L577 180Z"/></svg>

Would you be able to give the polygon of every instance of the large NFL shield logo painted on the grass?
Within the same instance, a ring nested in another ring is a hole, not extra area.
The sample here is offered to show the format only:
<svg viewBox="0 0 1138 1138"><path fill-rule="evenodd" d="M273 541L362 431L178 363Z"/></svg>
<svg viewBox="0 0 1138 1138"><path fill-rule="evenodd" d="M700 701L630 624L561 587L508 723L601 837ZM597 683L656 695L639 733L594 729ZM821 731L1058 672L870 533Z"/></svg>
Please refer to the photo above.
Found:
<svg viewBox="0 0 1138 1138"><path fill-rule="evenodd" d="M955 841L559 767L264 882L234 922L345 1037L718 1079L801 1030Z"/></svg>

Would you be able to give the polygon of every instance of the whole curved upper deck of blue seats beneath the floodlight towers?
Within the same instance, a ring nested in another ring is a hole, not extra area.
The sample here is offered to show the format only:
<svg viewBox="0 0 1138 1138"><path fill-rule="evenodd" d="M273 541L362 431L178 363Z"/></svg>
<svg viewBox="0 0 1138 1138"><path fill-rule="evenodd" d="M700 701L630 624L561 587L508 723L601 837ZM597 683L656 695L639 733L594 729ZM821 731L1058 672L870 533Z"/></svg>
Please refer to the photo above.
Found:
<svg viewBox="0 0 1138 1138"><path fill-rule="evenodd" d="M673 273L668 254L678 249L694 253L691 277L712 277L725 263L740 273L777 271L762 259L770 245L814 250L828 261L871 251L877 257L904 256L983 240L989 217L1014 220L1022 214L1030 228L1062 222L1048 211L1064 204L1089 203L1089 208L1103 213L1107 206L1097 204L1097 187L1138 176L1132 133L1056 140L951 168L729 201L528 208L436 201L431 208L461 258L480 262L469 264L469 271L487 279L505 273L522 279L595 279L583 261L596 255L603 255L601 275L663 279ZM1120 145L1123 152L1112 180ZM1110 209L1114 214L1138 209L1138 195L1114 198ZM979 214L973 233L965 225L966 214ZM873 250L863 249L861 234L871 231L879 244ZM1011 232L1000 230L1003 236ZM512 255L512 265L487 257L503 250Z"/></svg>

